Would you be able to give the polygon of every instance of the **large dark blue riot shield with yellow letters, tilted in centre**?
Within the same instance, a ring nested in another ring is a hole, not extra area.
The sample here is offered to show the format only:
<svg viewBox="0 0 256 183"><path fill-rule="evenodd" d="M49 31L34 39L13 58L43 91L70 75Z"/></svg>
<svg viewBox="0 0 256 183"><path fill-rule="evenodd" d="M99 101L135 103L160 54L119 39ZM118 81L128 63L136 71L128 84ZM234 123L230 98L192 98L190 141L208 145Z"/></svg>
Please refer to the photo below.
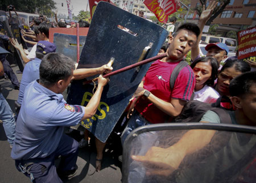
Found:
<svg viewBox="0 0 256 183"><path fill-rule="evenodd" d="M143 59L148 59L157 55L167 35L168 32L157 24L101 1L93 15L78 68L96 68L107 64L114 57L113 69L121 69L137 63L143 49L151 45L147 55L143 56ZM101 142L106 142L149 66L150 63L112 76L104 87L96 114L81 122L81 126ZM94 84L82 83L72 82L68 103L88 104Z"/></svg>

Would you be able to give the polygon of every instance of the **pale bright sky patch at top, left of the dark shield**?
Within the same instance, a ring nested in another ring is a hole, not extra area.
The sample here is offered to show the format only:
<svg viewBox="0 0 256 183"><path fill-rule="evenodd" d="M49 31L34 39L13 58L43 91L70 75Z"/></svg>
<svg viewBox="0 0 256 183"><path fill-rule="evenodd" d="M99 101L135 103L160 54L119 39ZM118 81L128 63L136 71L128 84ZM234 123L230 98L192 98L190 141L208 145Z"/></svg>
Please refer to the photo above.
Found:
<svg viewBox="0 0 256 183"><path fill-rule="evenodd" d="M56 7L57 7L57 14L66 14L68 15L68 7L67 7L67 1L66 0L53 0L56 2ZM77 16L79 14L80 10L85 10L86 11L86 5L87 5L88 0L71 0L71 7L73 6L73 11L72 13ZM63 7L61 7L61 3L63 3ZM89 3L88 3L88 11L90 11L89 8Z"/></svg>

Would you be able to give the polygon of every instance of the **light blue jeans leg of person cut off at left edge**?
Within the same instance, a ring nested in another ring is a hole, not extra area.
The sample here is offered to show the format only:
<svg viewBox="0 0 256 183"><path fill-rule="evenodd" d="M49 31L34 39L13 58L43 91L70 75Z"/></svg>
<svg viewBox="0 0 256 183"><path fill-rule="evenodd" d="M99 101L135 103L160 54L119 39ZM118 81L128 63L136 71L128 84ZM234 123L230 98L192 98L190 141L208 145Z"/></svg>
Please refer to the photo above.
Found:
<svg viewBox="0 0 256 183"><path fill-rule="evenodd" d="M3 128L5 129L8 142L10 145L13 145L15 139L14 113L2 93L0 93L0 120L3 122Z"/></svg>

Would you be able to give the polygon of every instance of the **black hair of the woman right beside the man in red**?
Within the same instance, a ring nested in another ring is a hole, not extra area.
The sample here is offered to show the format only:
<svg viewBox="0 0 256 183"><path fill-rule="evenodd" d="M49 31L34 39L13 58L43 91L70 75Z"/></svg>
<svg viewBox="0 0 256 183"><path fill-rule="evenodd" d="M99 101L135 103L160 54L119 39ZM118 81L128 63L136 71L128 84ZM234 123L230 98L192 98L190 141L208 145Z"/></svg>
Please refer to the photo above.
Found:
<svg viewBox="0 0 256 183"><path fill-rule="evenodd" d="M210 75L209 80L207 80L204 85L208 85L208 86L213 86L214 85L214 81L216 80L217 76L218 76L218 61L216 59L214 59L213 57L201 57L199 59L196 59L195 61L193 61L193 63L190 65L191 68L193 69L197 63L207 63L210 62L210 66L212 66L212 74Z"/></svg>

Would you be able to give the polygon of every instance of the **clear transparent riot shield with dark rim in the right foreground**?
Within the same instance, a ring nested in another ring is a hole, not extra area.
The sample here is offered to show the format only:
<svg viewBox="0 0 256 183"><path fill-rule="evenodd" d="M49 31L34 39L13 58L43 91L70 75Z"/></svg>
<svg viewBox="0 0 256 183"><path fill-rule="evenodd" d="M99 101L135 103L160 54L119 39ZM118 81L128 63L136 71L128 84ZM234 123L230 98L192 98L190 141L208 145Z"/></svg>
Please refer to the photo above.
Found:
<svg viewBox="0 0 256 183"><path fill-rule="evenodd" d="M186 149L183 154L182 149L198 139L189 136L188 140L188 134L199 131L205 133L204 137L195 142L193 151ZM214 135L204 143L209 133ZM255 127L153 124L139 127L127 136L123 145L122 182L252 183L256 180L255 167Z"/></svg>

